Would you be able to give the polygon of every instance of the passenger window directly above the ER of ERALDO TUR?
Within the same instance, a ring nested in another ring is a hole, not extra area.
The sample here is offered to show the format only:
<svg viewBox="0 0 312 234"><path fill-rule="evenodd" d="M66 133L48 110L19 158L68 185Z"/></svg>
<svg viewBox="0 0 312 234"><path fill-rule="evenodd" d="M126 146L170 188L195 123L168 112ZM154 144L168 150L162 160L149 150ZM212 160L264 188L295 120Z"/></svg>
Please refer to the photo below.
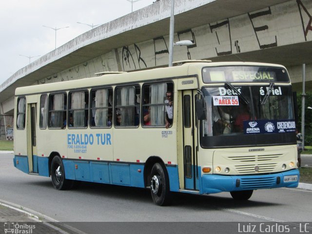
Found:
<svg viewBox="0 0 312 234"><path fill-rule="evenodd" d="M68 128L85 128L88 126L89 93L88 91L68 94L68 116L65 125Z"/></svg>

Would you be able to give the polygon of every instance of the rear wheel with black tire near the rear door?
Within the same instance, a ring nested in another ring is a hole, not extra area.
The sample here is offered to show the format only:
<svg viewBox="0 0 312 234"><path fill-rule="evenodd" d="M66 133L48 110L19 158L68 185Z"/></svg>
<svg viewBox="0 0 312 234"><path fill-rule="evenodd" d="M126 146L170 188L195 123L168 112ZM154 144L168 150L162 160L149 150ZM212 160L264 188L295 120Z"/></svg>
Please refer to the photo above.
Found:
<svg viewBox="0 0 312 234"><path fill-rule="evenodd" d="M65 179L64 166L59 156L52 159L51 179L54 188L57 190L71 189L74 185L74 180Z"/></svg>

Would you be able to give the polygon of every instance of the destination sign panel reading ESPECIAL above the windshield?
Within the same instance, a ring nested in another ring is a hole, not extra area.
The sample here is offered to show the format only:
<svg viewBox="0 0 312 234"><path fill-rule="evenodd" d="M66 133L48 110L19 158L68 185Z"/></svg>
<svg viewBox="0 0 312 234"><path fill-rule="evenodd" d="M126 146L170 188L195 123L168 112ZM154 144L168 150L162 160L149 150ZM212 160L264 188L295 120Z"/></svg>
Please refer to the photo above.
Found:
<svg viewBox="0 0 312 234"><path fill-rule="evenodd" d="M218 66L202 69L204 83L289 82L285 69L266 66Z"/></svg>

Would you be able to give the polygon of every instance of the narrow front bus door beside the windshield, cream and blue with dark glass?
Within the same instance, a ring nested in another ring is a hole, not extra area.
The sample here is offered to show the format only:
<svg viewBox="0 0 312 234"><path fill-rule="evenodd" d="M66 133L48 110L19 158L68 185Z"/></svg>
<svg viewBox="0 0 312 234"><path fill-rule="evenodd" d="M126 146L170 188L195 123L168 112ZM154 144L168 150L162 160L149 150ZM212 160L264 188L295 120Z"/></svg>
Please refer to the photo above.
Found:
<svg viewBox="0 0 312 234"><path fill-rule="evenodd" d="M195 94L197 94L196 90L182 91L184 187L190 190L198 190L198 184L196 182L198 169L196 157Z"/></svg>

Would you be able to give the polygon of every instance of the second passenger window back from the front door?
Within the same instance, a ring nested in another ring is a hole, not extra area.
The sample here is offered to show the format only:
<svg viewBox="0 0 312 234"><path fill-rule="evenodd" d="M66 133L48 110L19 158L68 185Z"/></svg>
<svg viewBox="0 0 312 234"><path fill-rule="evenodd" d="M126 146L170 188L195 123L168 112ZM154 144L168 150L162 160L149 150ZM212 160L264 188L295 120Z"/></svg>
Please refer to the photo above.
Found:
<svg viewBox="0 0 312 234"><path fill-rule="evenodd" d="M115 126L136 127L140 116L140 87L117 87L115 91Z"/></svg>

